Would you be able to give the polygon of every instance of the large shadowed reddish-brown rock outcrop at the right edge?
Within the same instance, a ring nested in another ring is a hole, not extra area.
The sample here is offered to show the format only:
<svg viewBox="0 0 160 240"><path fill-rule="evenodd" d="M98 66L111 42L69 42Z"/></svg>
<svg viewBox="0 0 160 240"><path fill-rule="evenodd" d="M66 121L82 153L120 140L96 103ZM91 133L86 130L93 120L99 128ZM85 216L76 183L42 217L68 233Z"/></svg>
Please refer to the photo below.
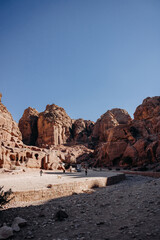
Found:
<svg viewBox="0 0 160 240"><path fill-rule="evenodd" d="M134 116L107 128L105 138L100 135L105 143L95 150L95 165L137 167L160 161L160 97L145 99Z"/></svg>

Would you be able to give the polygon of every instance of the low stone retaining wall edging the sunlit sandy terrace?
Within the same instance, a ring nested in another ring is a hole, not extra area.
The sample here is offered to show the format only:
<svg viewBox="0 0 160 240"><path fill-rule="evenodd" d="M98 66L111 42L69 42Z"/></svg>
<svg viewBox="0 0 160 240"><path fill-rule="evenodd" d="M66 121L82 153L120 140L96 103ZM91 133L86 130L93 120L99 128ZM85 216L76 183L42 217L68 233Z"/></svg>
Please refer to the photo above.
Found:
<svg viewBox="0 0 160 240"><path fill-rule="evenodd" d="M55 184L52 185L51 188L44 188L40 190L17 191L13 192L14 199L12 202L50 200L54 198L69 196L73 193L83 193L86 190L94 189L97 187L106 187L108 185L118 183L124 179L125 174L118 174L111 177L91 178L63 184Z"/></svg>

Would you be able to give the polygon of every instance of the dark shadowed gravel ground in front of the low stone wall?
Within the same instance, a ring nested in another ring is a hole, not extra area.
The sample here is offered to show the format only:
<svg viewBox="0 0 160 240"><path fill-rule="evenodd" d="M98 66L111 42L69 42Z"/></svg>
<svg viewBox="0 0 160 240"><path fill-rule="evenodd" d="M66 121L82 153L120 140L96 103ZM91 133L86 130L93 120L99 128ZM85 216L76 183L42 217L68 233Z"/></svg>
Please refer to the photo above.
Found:
<svg viewBox="0 0 160 240"><path fill-rule="evenodd" d="M55 220L59 209L68 214L64 221ZM27 225L13 240L159 240L160 179L127 175L88 193L3 210L0 224L17 216Z"/></svg>

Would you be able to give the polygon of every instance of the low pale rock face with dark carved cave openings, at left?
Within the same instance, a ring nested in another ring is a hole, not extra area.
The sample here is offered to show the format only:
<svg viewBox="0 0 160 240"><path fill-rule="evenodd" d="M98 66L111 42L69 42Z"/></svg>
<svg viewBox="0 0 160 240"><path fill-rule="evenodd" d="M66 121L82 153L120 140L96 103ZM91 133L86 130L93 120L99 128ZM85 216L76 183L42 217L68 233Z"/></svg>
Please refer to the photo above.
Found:
<svg viewBox="0 0 160 240"><path fill-rule="evenodd" d="M30 147L22 144L3 142L0 148L0 168L11 170L22 168L42 168L55 170L61 159L55 151Z"/></svg>

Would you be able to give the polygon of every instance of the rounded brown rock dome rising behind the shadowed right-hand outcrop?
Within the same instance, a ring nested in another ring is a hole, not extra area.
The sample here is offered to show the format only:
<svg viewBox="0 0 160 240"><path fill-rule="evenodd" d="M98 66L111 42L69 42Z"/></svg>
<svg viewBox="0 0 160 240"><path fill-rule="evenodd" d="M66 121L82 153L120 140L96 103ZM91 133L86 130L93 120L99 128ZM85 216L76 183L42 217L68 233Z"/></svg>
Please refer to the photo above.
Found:
<svg viewBox="0 0 160 240"><path fill-rule="evenodd" d="M120 124L128 124L131 120L130 115L124 109L115 108L109 110L95 123L92 136L100 142L105 142L108 138L108 129Z"/></svg>

